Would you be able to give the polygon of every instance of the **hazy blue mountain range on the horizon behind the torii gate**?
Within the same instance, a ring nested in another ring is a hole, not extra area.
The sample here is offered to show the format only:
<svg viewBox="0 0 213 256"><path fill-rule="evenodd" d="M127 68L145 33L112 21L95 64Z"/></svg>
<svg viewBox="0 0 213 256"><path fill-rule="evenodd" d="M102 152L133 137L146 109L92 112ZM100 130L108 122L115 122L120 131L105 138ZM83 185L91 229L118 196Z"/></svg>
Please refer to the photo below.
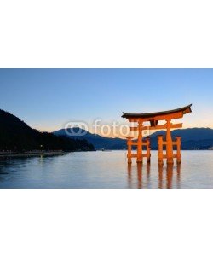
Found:
<svg viewBox="0 0 213 256"><path fill-rule="evenodd" d="M123 149L126 148L126 140L120 138L109 138L109 137L101 137L100 135L95 135L90 133L89 131L84 131L79 128L69 129L68 133L82 133L83 137L78 137L78 139L86 139L89 143L92 143L95 146L95 149ZM68 136L66 134L65 129L61 129L60 131L55 131L55 135L57 136ZM164 135L165 131L157 131L151 135L151 148L158 148L158 135ZM210 128L192 128L192 129L181 129L172 131L172 137L176 136L182 137L182 149L208 149L213 147L213 129Z"/></svg>

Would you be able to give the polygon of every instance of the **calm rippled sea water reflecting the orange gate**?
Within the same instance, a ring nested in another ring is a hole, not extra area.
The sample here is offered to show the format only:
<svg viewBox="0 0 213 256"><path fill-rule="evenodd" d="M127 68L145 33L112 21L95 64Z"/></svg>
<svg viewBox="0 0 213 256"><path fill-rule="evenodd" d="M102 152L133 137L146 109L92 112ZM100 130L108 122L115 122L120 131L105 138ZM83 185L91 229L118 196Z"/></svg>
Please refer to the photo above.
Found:
<svg viewBox="0 0 213 256"><path fill-rule="evenodd" d="M126 152L79 152L0 160L0 188L213 188L213 151L183 151L180 167L128 166Z"/></svg>

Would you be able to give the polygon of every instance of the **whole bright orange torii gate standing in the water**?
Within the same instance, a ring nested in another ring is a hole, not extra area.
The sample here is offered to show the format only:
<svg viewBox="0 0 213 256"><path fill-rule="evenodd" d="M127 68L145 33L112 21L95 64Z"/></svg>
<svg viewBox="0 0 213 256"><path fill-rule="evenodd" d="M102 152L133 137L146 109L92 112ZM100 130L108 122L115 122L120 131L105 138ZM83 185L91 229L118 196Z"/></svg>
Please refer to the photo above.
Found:
<svg viewBox="0 0 213 256"><path fill-rule="evenodd" d="M127 137L128 145L128 163L132 162L132 158L136 158L138 163L147 157L147 162L150 162L150 137L143 139L143 131L153 131L166 129L166 137L158 136L158 164L163 165L164 159L168 164L174 163L176 158L177 164L181 164L181 137L176 137L176 141L172 140L171 129L182 128L182 124L172 124L172 119L181 119L184 114L192 112L192 104L184 108L177 108L170 111L157 113L123 113L123 118L128 119L130 123L138 123L136 127L130 127L130 131L138 131L138 139L133 141L134 137ZM165 121L164 125L158 125L159 121ZM144 123L149 122L150 125L145 126ZM137 154L132 154L132 146L137 146ZM174 146L176 146L176 154L174 154ZM147 148L146 154L143 154L143 147ZM164 154L164 147L166 154Z"/></svg>

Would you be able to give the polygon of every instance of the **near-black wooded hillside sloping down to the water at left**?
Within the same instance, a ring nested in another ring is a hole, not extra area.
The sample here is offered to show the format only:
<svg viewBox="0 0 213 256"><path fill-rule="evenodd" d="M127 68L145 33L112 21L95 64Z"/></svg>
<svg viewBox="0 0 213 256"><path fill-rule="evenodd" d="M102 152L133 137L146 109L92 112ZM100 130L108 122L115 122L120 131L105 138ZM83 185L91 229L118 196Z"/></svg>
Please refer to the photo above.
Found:
<svg viewBox="0 0 213 256"><path fill-rule="evenodd" d="M93 149L93 145L86 140L57 137L52 133L34 130L13 114L0 109L0 151Z"/></svg>

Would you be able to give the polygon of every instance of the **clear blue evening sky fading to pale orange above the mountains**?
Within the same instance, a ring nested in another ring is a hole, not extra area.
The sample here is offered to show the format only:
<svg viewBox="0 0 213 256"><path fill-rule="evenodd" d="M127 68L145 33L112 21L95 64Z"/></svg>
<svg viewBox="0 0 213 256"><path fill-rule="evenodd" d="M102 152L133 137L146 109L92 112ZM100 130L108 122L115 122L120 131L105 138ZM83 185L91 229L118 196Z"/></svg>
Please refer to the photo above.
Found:
<svg viewBox="0 0 213 256"><path fill-rule="evenodd" d="M0 69L0 108L38 130L191 103L184 128L213 128L213 69Z"/></svg>

